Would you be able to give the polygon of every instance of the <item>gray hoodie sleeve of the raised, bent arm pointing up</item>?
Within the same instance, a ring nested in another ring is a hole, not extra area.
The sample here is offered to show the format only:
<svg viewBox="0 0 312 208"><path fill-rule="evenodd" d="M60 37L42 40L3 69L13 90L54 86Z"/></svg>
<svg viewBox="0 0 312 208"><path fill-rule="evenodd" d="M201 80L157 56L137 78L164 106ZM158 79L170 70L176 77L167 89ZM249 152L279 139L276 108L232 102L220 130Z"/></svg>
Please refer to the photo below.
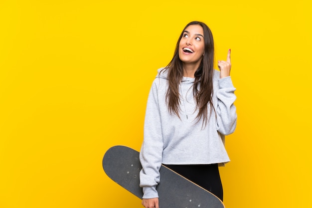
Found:
<svg viewBox="0 0 312 208"><path fill-rule="evenodd" d="M236 128L236 107L234 101L236 96L231 77L218 79L219 89L216 92L218 99L217 112L217 130L223 135L232 134Z"/></svg>

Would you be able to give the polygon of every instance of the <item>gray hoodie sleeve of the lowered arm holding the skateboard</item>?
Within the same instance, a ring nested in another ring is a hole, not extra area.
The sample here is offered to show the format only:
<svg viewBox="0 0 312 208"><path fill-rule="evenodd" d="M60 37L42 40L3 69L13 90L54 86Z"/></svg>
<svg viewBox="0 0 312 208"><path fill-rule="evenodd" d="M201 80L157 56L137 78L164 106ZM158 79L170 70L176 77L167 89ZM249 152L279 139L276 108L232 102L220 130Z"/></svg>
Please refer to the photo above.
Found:
<svg viewBox="0 0 312 208"><path fill-rule="evenodd" d="M162 132L156 82L154 81L148 97L144 141L140 152L142 170L140 172L140 187L143 188L143 199L158 198L156 186L159 183L159 169L162 162Z"/></svg>

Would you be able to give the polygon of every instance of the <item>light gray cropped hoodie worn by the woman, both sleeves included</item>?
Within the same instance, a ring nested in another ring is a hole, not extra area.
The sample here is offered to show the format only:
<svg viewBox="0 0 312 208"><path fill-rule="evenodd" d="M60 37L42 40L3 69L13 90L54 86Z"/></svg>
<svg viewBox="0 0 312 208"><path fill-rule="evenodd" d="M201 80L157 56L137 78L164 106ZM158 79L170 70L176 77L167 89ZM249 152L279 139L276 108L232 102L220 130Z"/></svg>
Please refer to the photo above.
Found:
<svg viewBox="0 0 312 208"><path fill-rule="evenodd" d="M140 186L144 199L157 198L161 164L225 164L229 157L224 147L224 135L236 128L236 107L231 77L220 79L220 72L213 76L212 115L207 125L197 122L198 110L193 98L195 78L183 77L179 86L180 111L178 118L171 115L165 103L167 90L167 70L158 74L153 82L147 103L144 141L140 152L143 169ZM208 105L208 112L210 112ZM215 115L216 114L216 115ZM208 115L209 117L209 115ZM197 122L197 123L196 123Z"/></svg>

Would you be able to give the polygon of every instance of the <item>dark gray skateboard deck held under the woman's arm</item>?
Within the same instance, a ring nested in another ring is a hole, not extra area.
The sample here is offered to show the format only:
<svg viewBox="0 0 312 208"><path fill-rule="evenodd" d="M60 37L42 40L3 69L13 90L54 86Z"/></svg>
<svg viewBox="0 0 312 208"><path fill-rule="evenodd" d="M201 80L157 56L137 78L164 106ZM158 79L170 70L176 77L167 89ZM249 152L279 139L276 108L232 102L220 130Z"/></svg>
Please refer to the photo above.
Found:
<svg viewBox="0 0 312 208"><path fill-rule="evenodd" d="M104 155L103 169L114 182L142 199L138 151L126 146L111 147ZM224 208L215 195L169 168L161 165L159 173L159 208Z"/></svg>

